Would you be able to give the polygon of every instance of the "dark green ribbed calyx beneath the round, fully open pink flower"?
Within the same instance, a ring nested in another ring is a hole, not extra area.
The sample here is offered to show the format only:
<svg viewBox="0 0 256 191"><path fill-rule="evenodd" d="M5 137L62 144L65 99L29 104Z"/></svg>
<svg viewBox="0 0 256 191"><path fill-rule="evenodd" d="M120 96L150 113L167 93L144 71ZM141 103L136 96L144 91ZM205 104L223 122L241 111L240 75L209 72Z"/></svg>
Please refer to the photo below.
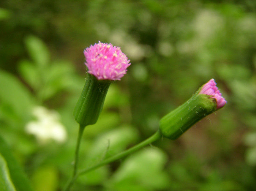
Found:
<svg viewBox="0 0 256 191"><path fill-rule="evenodd" d="M94 75L87 73L84 89L73 112L80 126L97 122L110 84L109 80L97 80Z"/></svg>

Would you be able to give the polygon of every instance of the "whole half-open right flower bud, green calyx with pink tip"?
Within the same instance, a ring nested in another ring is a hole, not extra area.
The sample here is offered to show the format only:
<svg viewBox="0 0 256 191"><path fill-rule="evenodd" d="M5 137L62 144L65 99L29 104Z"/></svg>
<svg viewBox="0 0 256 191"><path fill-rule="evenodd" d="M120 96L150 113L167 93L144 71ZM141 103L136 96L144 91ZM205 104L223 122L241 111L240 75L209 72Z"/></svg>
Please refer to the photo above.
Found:
<svg viewBox="0 0 256 191"><path fill-rule="evenodd" d="M196 122L225 104L226 100L221 96L214 80L211 79L187 102L160 120L160 131L164 137L176 139Z"/></svg>

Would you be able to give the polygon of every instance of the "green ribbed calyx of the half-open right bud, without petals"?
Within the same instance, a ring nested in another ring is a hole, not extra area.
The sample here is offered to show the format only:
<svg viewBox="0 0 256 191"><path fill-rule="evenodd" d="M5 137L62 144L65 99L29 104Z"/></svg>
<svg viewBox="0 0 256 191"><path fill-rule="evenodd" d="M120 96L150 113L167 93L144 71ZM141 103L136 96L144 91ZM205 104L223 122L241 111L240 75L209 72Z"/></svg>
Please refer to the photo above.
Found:
<svg viewBox="0 0 256 191"><path fill-rule="evenodd" d="M169 139L177 139L205 116L216 111L216 100L211 95L194 94L160 120L160 131Z"/></svg>

